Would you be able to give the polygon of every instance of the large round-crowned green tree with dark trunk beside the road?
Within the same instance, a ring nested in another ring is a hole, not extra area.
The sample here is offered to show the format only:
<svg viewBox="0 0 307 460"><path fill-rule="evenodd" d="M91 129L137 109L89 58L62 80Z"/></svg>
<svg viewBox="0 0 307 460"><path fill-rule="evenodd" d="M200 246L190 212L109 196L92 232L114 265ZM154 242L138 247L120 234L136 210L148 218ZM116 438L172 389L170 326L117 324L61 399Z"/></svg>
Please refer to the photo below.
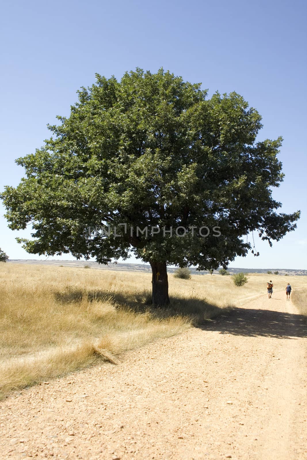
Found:
<svg viewBox="0 0 307 460"><path fill-rule="evenodd" d="M167 265L226 268L252 249L249 232L271 245L295 228L299 212L277 213L272 199L282 139L255 141L261 116L239 94L207 98L163 69L96 75L78 93L52 137L17 160L26 177L2 194L10 228L32 224L33 239L17 239L29 253L102 264L134 253L150 263L162 305Z"/></svg>

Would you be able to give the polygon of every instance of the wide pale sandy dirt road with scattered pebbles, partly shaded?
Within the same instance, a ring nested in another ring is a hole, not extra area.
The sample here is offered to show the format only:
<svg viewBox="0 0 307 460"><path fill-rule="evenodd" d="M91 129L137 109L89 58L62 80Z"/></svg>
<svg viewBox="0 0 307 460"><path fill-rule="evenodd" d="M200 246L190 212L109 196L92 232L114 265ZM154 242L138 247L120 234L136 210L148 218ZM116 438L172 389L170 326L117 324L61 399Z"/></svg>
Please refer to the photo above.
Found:
<svg viewBox="0 0 307 460"><path fill-rule="evenodd" d="M0 459L307 459L307 327L284 292L0 403Z"/></svg>

